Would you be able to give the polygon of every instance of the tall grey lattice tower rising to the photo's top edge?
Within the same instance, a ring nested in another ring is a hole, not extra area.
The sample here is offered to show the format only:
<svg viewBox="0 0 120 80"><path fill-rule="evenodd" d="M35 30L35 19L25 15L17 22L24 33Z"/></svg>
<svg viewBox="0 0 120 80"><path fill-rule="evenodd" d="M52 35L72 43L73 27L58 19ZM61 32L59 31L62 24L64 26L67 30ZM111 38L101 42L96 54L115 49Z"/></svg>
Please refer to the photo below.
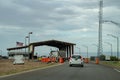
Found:
<svg viewBox="0 0 120 80"><path fill-rule="evenodd" d="M103 52L102 49L102 16L103 16L103 0L100 0L99 2L99 33L98 33L98 57L100 57L100 55Z"/></svg>

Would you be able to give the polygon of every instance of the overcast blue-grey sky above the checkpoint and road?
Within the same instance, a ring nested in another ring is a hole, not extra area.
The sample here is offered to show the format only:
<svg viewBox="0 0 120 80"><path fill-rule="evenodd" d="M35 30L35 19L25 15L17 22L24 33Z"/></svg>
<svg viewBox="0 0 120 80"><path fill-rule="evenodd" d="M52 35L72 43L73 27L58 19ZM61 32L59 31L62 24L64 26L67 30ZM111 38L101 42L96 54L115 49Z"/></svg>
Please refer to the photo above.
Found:
<svg viewBox="0 0 120 80"><path fill-rule="evenodd" d="M103 19L120 23L120 0L103 3ZM24 43L32 31L31 42L55 39L75 43L81 52L86 51L82 45L96 52L92 44L98 43L98 12L99 0L0 0L0 50L7 54L7 48ZM116 39L107 34L120 36L120 27L103 23L103 42L112 43L116 51ZM103 44L103 51L110 46Z"/></svg>

